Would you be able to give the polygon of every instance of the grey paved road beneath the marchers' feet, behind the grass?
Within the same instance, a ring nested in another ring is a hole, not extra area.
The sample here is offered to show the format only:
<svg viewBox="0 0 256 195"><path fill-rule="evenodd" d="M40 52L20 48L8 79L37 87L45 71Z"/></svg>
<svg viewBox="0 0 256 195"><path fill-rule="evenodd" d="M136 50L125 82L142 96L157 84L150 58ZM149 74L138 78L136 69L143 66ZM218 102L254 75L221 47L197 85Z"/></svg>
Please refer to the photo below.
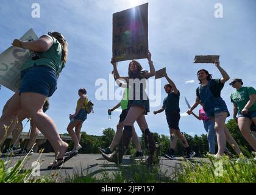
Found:
<svg viewBox="0 0 256 195"><path fill-rule="evenodd" d="M4 159L4 158L2 158ZM9 165L14 165L19 159L24 159L24 156L10 157L5 160L10 160ZM92 176L99 176L103 171L116 171L118 166L115 163L106 161L101 154L78 154L77 156L66 161L62 169L59 170L48 170L47 167L54 160L53 153L39 154L35 153L25 159L24 168L29 169L34 161L39 159L40 162L40 175L45 176L58 172L60 180L64 180L66 176L72 176L74 174L86 175L91 174ZM199 161L202 158L194 158L193 161ZM132 165L134 161L129 156L124 156L123 163L121 166ZM180 166L182 163L181 158L177 160L168 160L166 158L160 158L160 168L163 172L167 171L168 175L174 172L176 166Z"/></svg>

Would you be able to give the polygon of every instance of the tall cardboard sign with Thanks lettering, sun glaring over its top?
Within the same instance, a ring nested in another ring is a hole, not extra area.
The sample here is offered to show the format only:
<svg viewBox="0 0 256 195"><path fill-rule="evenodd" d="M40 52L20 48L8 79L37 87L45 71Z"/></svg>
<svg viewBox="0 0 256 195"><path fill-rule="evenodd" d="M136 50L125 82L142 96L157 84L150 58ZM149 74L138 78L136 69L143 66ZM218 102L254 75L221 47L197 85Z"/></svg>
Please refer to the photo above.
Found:
<svg viewBox="0 0 256 195"><path fill-rule="evenodd" d="M115 62L144 59L148 52L148 3L113 14Z"/></svg>

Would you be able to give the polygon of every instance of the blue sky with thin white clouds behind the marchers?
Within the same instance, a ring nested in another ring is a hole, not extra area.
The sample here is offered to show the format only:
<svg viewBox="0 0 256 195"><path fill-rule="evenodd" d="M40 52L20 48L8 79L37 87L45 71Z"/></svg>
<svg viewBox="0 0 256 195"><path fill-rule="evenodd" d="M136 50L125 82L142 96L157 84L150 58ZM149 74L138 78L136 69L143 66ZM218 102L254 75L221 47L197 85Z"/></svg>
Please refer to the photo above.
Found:
<svg viewBox="0 0 256 195"><path fill-rule="evenodd" d="M97 101L94 97L99 78L108 79L112 71L112 14L135 5L149 2L149 49L155 69L166 66L169 77L180 90L181 113L187 111L184 96L192 104L198 86L196 73L205 68L214 78L221 77L212 64L193 64L194 55L218 54L220 62L231 78L239 77L244 85L255 85L256 62L256 2L242 1L189 1L189 0L76 0L38 1L41 17L32 18L31 5L36 1L1 0L0 7L0 52L9 48L12 40L20 38L31 27L37 35L57 30L69 43L66 68L58 80L58 88L51 98L48 115L54 119L59 133L66 133L69 113L74 113L77 90L87 88L88 97L94 102L94 113L82 127L91 135L102 135L102 129L115 129L120 112L113 112L107 119L107 109L118 101ZM221 2L223 18L215 18L215 4ZM144 69L149 69L146 60L140 60ZM129 62L120 62L120 74L127 75ZM192 83L185 83L194 80ZM162 85L166 83L162 79ZM225 85L222 98L232 113L230 93ZM5 87L0 90L0 110L13 92ZM161 89L161 99L166 93ZM169 135L165 114L146 116L152 132ZM198 107L199 108L199 107ZM195 112L198 112L196 108ZM137 124L137 133L141 135ZM182 132L201 135L205 133L201 121L193 116L182 116ZM28 127L25 128L28 130Z"/></svg>

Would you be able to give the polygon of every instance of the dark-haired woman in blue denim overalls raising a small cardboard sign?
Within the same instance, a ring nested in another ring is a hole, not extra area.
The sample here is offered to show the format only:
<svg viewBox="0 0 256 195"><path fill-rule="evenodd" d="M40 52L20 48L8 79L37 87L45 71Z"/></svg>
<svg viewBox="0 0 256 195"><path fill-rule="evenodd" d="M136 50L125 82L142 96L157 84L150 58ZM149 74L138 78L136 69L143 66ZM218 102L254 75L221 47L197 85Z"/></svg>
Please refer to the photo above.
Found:
<svg viewBox="0 0 256 195"><path fill-rule="evenodd" d="M215 65L219 69L222 78L212 79L212 74L208 73L205 69L197 71L197 79L201 85L196 89L196 102L194 102L187 113L188 115L191 115L192 110L194 110L201 101L204 105L207 117L210 117L215 121L218 153L214 155L214 157L220 157L224 154L227 139L229 139L229 143L233 143L232 145L236 153L241 154L238 144L233 140L233 137L225 126L229 111L227 110L226 103L221 98L221 90L224 87L224 83L229 80L229 75L223 68L221 68L218 60L215 60Z"/></svg>

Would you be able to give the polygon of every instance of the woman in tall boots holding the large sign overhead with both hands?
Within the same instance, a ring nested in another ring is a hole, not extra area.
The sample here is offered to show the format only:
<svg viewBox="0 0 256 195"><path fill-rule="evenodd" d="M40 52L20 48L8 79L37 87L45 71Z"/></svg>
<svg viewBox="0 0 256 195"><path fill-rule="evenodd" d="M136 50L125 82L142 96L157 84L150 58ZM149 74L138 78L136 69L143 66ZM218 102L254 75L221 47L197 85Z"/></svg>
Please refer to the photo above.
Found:
<svg viewBox="0 0 256 195"><path fill-rule="evenodd" d="M152 165L153 157L156 151L155 141L152 133L148 129L148 124L146 122L145 115L149 112L149 99L146 94L146 80L149 77L155 75L155 68L151 60L151 53L148 51L147 59L149 62L150 71L144 71L136 60L132 60L129 63L128 68L128 79L126 77L120 77L118 70L116 68L116 62L113 62L112 65L114 68L114 74L116 79L124 79L129 85L129 102L127 105L127 116L124 119L124 130L121 137L121 141L118 144L118 152L113 152L112 154L102 154L102 156L111 162L120 164L123 159L124 152L126 151L130 138L132 137L132 126L135 121L137 121L140 126L141 131L145 137L145 142L149 147L149 158L148 163Z"/></svg>

